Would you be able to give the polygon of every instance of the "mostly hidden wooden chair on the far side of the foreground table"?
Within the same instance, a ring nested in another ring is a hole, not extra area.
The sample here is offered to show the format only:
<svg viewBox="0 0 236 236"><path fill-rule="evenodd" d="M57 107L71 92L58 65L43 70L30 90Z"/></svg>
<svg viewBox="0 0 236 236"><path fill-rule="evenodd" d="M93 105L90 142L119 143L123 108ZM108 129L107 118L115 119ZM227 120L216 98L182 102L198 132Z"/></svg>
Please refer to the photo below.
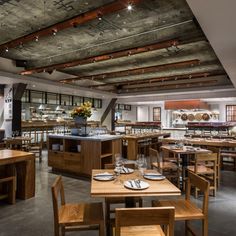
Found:
<svg viewBox="0 0 236 236"><path fill-rule="evenodd" d="M133 163L129 164L126 163L124 164L126 168L132 168L135 169L135 165ZM104 165L105 169L115 169L115 164L105 164ZM115 219L112 218L111 214L115 213L114 207L112 205L117 205L117 204L124 204L125 203L125 198L124 197L109 197L105 198L105 222L106 222L106 230L107 230L107 235L110 235L112 227L115 225ZM138 204L139 207L143 206L143 199L141 197L135 197L135 203Z"/></svg>

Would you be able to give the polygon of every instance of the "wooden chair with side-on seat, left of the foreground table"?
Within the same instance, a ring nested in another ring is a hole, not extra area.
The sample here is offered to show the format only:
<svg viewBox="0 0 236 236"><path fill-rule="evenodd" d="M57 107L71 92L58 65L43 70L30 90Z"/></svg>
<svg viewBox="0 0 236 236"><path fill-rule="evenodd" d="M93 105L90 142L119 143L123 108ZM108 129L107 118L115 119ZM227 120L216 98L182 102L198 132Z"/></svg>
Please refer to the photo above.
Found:
<svg viewBox="0 0 236 236"><path fill-rule="evenodd" d="M58 197L60 196L60 207ZM104 235L102 203L66 204L62 177L58 176L52 186L54 211L54 235L64 236L65 232L77 230L99 230Z"/></svg>

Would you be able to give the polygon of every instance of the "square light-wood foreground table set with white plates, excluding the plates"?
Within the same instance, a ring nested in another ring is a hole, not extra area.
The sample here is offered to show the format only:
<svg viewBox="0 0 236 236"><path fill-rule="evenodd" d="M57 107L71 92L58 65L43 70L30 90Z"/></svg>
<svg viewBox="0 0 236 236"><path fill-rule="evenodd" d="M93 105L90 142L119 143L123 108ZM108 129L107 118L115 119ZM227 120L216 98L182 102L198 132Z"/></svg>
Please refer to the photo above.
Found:
<svg viewBox="0 0 236 236"><path fill-rule="evenodd" d="M143 190L134 190L124 186L122 183L116 183L116 181L98 181L93 177L96 174L108 172L115 174L113 170L97 169L92 170L92 182L91 182L91 196L92 197L125 197L126 206L134 206L134 197L147 197L147 196L178 196L181 194L179 188L172 184L168 179L164 180L148 180L143 177L140 178L139 173L135 170L130 174L121 174L121 182L128 180L141 179L147 182L150 186ZM146 172L153 173L154 170L147 170ZM158 172L157 172L158 173Z"/></svg>

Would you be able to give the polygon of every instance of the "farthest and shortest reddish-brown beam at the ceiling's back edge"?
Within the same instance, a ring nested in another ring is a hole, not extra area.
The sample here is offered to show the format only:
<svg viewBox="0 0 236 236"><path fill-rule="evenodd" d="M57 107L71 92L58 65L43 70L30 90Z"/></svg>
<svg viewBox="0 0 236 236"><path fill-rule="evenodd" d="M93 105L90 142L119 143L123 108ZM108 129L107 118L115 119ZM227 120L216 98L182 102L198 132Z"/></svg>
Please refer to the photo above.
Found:
<svg viewBox="0 0 236 236"><path fill-rule="evenodd" d="M119 91L114 90L112 92L118 92L118 93L130 93L130 92L149 92L149 91L155 91L155 90L164 90L164 89L184 89L184 88L193 88L193 87L206 87L209 85L217 84L217 80L208 80L204 82L189 82L189 83L182 83L182 84L168 84L168 85L150 85L150 87L146 86L145 88L124 88L120 89ZM109 90L110 91L110 90Z"/></svg>

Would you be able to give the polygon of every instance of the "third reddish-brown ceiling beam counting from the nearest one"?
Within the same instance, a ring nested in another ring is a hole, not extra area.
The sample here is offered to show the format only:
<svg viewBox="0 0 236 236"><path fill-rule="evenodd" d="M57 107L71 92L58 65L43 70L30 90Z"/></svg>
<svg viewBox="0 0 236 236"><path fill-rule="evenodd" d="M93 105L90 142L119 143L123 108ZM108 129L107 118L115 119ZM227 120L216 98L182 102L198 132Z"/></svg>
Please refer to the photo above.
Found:
<svg viewBox="0 0 236 236"><path fill-rule="evenodd" d="M130 69L130 70L123 70L123 71L116 71L116 72L109 72L104 74L97 74L97 75L90 75L90 76L84 76L84 77L77 77L73 79L63 79L60 82L66 83L66 82L74 82L76 80L103 80L108 78L117 78L117 77L125 77L125 76L131 76L131 75L139 75L139 74L146 74L146 73L152 73L152 72L158 72L164 69L170 69L170 68L182 68L186 66L194 66L199 65L200 61L198 59L194 60L188 60L188 61L180 61L180 62L174 62L169 64L162 64L157 66L149 66L149 67L142 67L137 69Z"/></svg>

